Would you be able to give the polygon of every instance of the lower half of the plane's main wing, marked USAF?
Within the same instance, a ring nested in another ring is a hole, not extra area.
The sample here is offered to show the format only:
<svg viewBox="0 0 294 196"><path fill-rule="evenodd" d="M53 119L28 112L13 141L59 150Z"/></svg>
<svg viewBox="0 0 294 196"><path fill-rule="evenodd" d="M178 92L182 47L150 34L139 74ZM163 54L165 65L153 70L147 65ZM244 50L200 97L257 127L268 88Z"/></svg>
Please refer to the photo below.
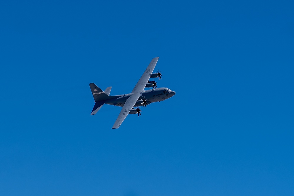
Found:
<svg viewBox="0 0 294 196"><path fill-rule="evenodd" d="M136 104L136 101L140 97L140 93L133 94L130 96L127 100L125 105L123 105L123 108L121 109L121 113L119 113L114 125L113 129L119 128L121 123L123 123L123 120L127 117L128 113L130 113L130 110L133 109L134 105Z"/></svg>

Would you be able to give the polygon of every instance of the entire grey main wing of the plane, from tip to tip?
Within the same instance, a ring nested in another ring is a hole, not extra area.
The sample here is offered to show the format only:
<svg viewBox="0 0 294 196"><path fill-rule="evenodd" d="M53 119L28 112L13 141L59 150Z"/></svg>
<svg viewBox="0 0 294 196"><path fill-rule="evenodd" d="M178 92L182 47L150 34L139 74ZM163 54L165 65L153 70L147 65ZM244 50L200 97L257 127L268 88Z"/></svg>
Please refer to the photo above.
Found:
<svg viewBox="0 0 294 196"><path fill-rule="evenodd" d="M121 123L123 123L123 120L127 117L127 115L130 113L130 110L133 109L134 105L136 104L136 101L140 97L140 93L144 90L146 83L148 82L150 78L150 74L153 72L155 65L158 61L159 57L155 57L151 60L148 67L144 71L143 75L137 82L136 86L134 87L131 95L127 100L126 103L123 105L123 108L121 109L121 112L119 113L114 125L113 129L117 129Z"/></svg>

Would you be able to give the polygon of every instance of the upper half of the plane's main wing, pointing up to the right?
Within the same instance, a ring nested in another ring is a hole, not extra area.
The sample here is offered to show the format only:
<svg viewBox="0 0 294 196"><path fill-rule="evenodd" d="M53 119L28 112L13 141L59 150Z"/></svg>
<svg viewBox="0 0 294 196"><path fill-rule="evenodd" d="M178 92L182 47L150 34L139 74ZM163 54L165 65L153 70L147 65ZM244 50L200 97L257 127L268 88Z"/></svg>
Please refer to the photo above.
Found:
<svg viewBox="0 0 294 196"><path fill-rule="evenodd" d="M141 93L141 91L143 91L143 89L146 86L146 83L148 82L148 80L150 78L150 74L153 72L153 70L154 70L154 68L156 66L156 63L157 63L158 59L159 59L159 57L155 57L155 58L153 58L151 60L148 67L144 71L143 75L141 76L141 78L137 82L136 86L134 87L132 93L135 93L135 92L140 92Z"/></svg>

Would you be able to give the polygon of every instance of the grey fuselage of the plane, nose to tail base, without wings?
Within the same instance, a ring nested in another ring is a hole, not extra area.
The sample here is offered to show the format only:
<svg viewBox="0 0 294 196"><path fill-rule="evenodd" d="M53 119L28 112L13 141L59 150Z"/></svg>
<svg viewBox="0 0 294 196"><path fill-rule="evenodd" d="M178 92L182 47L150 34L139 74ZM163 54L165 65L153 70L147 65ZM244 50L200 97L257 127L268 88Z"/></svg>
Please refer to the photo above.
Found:
<svg viewBox="0 0 294 196"><path fill-rule="evenodd" d="M112 98L105 100L106 104L109 105L116 105L123 107L123 105L126 103L126 100L132 95L133 93L130 94L124 94L124 95L118 95L120 97L117 98ZM168 98L171 98L176 94L175 91L171 91L168 88L156 88L156 89L151 89L151 90L144 90L141 93L141 96L139 97L138 101L136 102L135 106L142 106L143 105L143 99L147 101L147 105L150 103L158 102L158 101L164 101ZM135 107L134 106L134 107Z"/></svg>

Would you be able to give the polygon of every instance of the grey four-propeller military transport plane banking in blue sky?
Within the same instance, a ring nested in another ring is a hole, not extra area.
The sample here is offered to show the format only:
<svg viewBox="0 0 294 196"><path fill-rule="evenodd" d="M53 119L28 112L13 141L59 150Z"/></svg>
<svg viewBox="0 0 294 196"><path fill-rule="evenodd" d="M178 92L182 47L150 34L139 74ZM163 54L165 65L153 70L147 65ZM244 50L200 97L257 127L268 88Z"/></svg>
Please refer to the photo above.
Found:
<svg viewBox="0 0 294 196"><path fill-rule="evenodd" d="M174 96L176 94L175 91L171 91L169 88L156 88L156 82L149 81L150 78L161 79L162 75L159 71L152 73L158 59L159 57L155 57L151 60L131 93L110 96L111 86L107 87L105 91L102 91L94 83L90 83L89 85L95 102L91 115L95 115L104 104L123 107L112 127L112 129L117 129L121 126L121 123L123 123L123 120L125 120L128 114L141 115L142 110L139 108L140 106L146 107L150 103L160 102ZM144 90L144 88L152 89Z"/></svg>

